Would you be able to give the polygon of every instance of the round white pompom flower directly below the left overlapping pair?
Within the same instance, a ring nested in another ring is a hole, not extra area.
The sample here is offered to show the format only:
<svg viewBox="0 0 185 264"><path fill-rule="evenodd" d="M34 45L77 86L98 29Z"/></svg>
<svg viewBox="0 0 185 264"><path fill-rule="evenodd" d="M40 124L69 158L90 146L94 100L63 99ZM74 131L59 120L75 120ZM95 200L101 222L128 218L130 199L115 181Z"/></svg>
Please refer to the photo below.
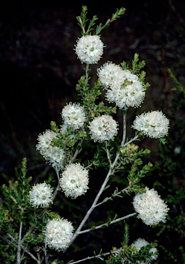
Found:
<svg viewBox="0 0 185 264"><path fill-rule="evenodd" d="M88 190L88 170L80 164L69 164L60 178L60 187L66 197L77 198Z"/></svg>

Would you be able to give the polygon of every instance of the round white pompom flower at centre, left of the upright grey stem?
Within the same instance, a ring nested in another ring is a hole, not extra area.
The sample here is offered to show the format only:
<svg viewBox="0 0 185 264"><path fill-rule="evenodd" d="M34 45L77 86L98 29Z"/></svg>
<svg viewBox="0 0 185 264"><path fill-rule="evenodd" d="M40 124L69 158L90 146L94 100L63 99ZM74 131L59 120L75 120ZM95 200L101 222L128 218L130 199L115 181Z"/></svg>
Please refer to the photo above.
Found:
<svg viewBox="0 0 185 264"><path fill-rule="evenodd" d="M117 134L117 123L111 115L101 115L89 124L90 136L94 142L113 140Z"/></svg>

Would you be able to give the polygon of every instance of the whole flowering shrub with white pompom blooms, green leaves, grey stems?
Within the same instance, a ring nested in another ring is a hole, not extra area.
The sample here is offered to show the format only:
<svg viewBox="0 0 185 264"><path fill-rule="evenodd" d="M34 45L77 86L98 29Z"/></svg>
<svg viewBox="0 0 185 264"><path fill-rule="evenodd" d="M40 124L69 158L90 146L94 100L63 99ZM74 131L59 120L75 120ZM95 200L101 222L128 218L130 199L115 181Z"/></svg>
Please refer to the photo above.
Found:
<svg viewBox="0 0 185 264"><path fill-rule="evenodd" d="M168 134L169 120L161 111L143 113L136 116L132 124L132 128L136 130L135 135L127 135L127 111L130 107L140 107L149 87L145 83L145 72L141 70L145 62L139 61L138 54L134 55L131 66L125 61L120 65L107 62L97 68L97 82L93 86L89 84L90 65L97 64L103 55L104 44L100 33L124 13L125 8L117 9L111 19L96 27L96 16L87 25L86 6L82 7L82 14L77 17L82 37L77 40L74 50L77 58L85 64L85 74L76 86L79 102L66 104L61 112L61 124L58 126L52 121L51 129L38 135L36 149L45 162L53 167L56 177L49 177L44 183L30 187L31 177L26 176L27 164L26 159L23 159L18 180L9 188L2 186L5 203L0 208L0 236L4 263L64 263L63 254L80 234L108 228L109 225L130 217L138 217L147 225L166 221L169 211L167 204L155 190L143 188L140 184L140 179L149 173L152 166L150 162L143 166L141 157L150 151L140 149L134 142L147 135L159 138L164 144L163 137ZM114 106L99 101L101 89L106 89L105 97ZM123 120L121 126L116 120L118 112ZM93 151L93 157L82 160L86 146ZM111 185L112 179L116 175L119 177L127 166L130 167L130 172L125 186L116 187L114 192L102 199L102 193ZM60 201L58 194L62 193L65 199L78 199L79 196L86 195L90 188L89 182L97 181L97 178L90 177L90 172L96 173L98 167L102 167L104 171L103 183L92 198L90 208L84 212L84 217L73 223L73 216L69 213L70 219L67 219L66 210L60 208L63 201ZM126 195L133 197L130 214L121 212L121 217L115 216L106 222L102 220L100 224L90 223L93 210L116 197ZM128 230L128 224L125 223L121 248L108 248L108 252L100 249L99 254L77 261L71 261L70 256L70 263L92 259L105 263L155 261L158 258L156 241L149 243L144 238L138 238L130 244Z"/></svg>

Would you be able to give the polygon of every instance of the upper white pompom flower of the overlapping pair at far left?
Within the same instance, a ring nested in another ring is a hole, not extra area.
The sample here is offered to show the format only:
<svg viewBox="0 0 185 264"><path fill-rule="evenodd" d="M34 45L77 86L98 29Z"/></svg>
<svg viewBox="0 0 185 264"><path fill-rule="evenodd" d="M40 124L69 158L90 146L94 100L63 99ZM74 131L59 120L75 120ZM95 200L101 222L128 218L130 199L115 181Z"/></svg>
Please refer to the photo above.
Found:
<svg viewBox="0 0 185 264"><path fill-rule="evenodd" d="M57 137L57 133L53 132L49 129L47 129L45 132L42 134L40 133L38 135L38 144L36 144L36 149L40 151L40 154L44 154L49 146L51 146L51 142L53 138Z"/></svg>

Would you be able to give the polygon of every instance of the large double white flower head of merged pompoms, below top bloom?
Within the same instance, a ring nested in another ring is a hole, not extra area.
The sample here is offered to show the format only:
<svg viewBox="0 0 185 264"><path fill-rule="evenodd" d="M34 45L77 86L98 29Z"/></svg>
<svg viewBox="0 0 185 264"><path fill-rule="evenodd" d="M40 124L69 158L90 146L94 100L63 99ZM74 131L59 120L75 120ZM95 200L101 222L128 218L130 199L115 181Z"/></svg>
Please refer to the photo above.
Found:
<svg viewBox="0 0 185 264"><path fill-rule="evenodd" d="M97 75L107 90L106 98L108 101L115 102L120 109L139 107L143 102L145 89L136 74L108 62L97 69Z"/></svg>

